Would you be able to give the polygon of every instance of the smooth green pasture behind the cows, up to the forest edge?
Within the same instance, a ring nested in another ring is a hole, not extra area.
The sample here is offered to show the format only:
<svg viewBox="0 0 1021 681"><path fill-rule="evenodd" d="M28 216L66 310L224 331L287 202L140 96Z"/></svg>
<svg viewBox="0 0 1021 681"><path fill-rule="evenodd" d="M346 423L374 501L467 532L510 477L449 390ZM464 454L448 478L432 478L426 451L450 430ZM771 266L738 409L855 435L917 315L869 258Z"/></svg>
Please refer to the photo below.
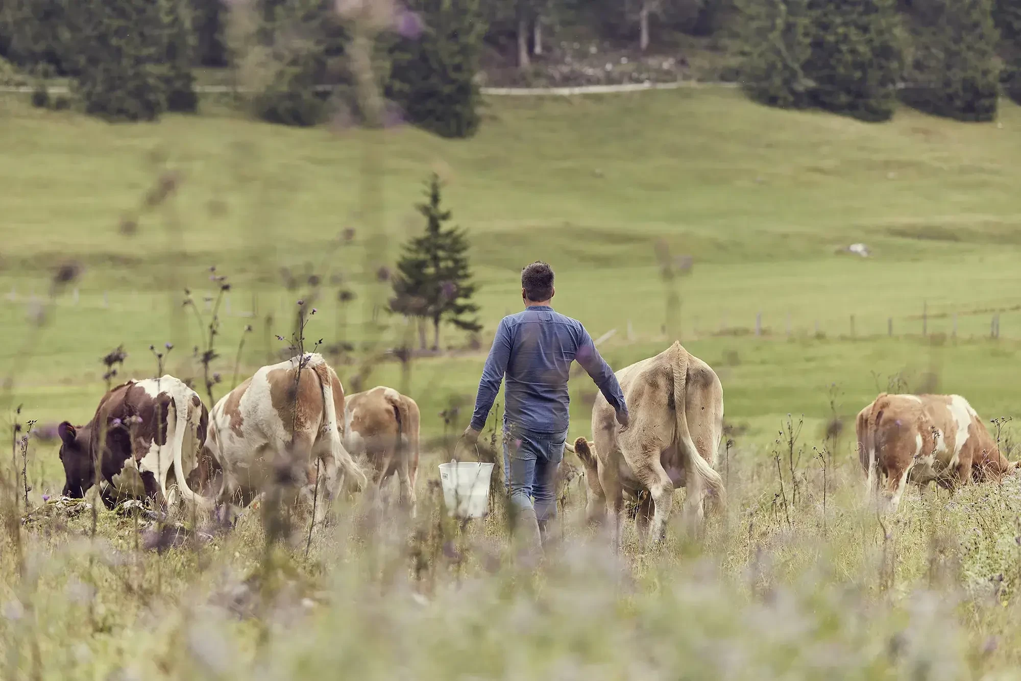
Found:
<svg viewBox="0 0 1021 681"><path fill-rule="evenodd" d="M962 393L987 418L1021 416L1011 380L1021 109L1004 103L993 125L904 110L872 126L712 88L487 104L476 138L443 141L223 112L111 126L7 96L0 362L11 405L41 422L87 420L103 390L99 358L121 343L127 375L154 373L148 346L173 342L168 371L198 376L210 265L233 286L215 396L245 326L242 377L287 345L276 335L290 336L296 301L313 289L308 343L352 343L355 363L339 367L350 381L372 352L415 341L403 321L370 319L387 295L377 270L421 229L414 204L437 171L473 242L483 349L448 329L442 356L416 358L406 376L384 362L363 377L415 396L430 436L450 405L463 427L488 338L520 307L518 272L538 258L556 270L561 311L594 337L616 330L602 345L613 366L680 337L723 379L728 422L763 443L788 412L828 418L829 386L847 418L898 374L912 388ZM146 207L160 178L174 191ZM339 238L348 229L350 242ZM872 256L837 252L855 242ZM693 266L666 282L664 253ZM65 261L82 275L50 298ZM281 267L297 288L284 287ZM186 287L201 324L181 306ZM680 303L668 314L670 287ZM353 302L337 300L342 288ZM990 340L995 313L1001 338ZM587 432L591 385L579 377L574 390L572 435Z"/></svg>

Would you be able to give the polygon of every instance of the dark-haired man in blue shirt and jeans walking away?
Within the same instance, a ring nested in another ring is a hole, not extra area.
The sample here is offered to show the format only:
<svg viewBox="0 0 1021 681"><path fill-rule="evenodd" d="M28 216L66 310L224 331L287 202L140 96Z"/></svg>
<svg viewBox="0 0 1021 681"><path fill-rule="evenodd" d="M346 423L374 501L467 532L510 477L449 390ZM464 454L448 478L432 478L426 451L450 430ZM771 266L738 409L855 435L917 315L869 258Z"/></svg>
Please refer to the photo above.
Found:
<svg viewBox="0 0 1021 681"><path fill-rule="evenodd" d="M479 381L472 423L464 438L474 444L486 425L506 376L503 414L504 482L517 527L538 547L556 515L556 469L564 458L570 421L568 378L577 360L617 411L624 430L628 407L613 370L599 356L580 322L553 311L553 271L533 262L521 273L525 310L504 317L496 329ZM532 498L535 504L532 504Z"/></svg>

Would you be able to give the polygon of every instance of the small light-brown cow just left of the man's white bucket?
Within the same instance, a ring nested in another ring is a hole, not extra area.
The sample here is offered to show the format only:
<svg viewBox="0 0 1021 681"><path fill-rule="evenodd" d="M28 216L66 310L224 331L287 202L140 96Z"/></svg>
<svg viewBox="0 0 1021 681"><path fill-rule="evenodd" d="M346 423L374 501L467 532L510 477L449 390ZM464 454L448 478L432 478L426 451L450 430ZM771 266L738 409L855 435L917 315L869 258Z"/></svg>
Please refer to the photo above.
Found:
<svg viewBox="0 0 1021 681"><path fill-rule="evenodd" d="M375 484L382 486L397 474L400 503L407 505L415 518L419 474L419 405L415 400L383 386L348 395L344 446L352 456L369 458Z"/></svg>

